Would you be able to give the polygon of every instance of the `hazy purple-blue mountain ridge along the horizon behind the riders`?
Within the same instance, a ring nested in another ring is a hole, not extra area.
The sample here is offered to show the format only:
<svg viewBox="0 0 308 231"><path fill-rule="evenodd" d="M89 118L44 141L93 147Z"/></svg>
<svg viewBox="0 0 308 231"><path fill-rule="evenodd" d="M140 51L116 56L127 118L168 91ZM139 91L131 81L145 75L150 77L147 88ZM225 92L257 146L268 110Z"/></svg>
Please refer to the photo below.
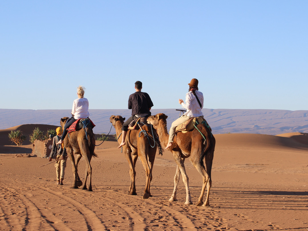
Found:
<svg viewBox="0 0 308 231"><path fill-rule="evenodd" d="M126 119L131 115L128 109L90 109L90 119L96 125L96 134L108 133L111 128L110 116L121 115ZM167 126L179 117L175 109L152 109L152 115L168 115ZM308 111L268 110L268 109L202 109L213 134L256 133L278 135L289 132L308 133ZM49 124L59 126L60 118L70 117L71 110L23 110L0 109L0 129L21 124ZM111 134L115 129L111 128Z"/></svg>

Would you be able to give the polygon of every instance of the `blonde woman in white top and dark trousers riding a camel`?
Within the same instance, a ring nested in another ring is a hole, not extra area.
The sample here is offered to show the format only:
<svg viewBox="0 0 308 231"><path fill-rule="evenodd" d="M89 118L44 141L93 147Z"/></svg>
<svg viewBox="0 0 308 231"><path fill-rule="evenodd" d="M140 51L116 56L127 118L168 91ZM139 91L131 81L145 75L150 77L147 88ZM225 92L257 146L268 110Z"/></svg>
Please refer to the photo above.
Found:
<svg viewBox="0 0 308 231"><path fill-rule="evenodd" d="M71 112L72 117L66 121L63 134L57 145L63 143L63 140L67 134L67 128L69 128L76 120L81 118L88 118L90 115L90 113L88 112L89 101L86 98L83 98L84 89L85 88L83 86L77 87L78 99L75 99L73 102L73 108Z"/></svg>

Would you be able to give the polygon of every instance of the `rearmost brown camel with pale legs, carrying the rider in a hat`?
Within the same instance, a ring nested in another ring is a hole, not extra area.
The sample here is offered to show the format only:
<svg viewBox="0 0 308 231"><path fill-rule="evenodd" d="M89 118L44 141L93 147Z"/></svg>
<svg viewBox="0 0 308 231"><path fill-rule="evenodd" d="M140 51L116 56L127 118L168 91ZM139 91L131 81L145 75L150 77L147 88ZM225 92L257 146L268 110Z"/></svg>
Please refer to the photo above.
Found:
<svg viewBox="0 0 308 231"><path fill-rule="evenodd" d="M168 132L167 132L167 115L163 113L159 113L154 116L148 117L147 121L149 124L152 124L156 129L160 141L163 145L168 144ZM176 189L177 184L180 179L180 173L182 174L183 182L186 187L186 202L185 204L193 204L191 200L191 195L188 186L188 176L185 171L184 160L185 158L190 157L190 161L193 166L198 170L203 178L203 185L201 190L201 195L199 197L197 206L210 206L209 205L209 191L212 186L211 179L211 170L212 170L212 162L214 156L215 149L215 138L210 132L209 128L207 128L203 124L197 125L198 130L205 136L205 139L201 135L201 133L194 128L193 131L189 131L186 133L178 132L176 137L174 137L172 146L168 149L173 153L174 159L177 164L176 174L174 176L174 189L173 194L170 201L177 201L176 199ZM205 142L205 144L204 144ZM205 165L203 163L203 159L205 159ZM206 200L203 204L203 195L205 191L205 186L207 187L207 195Z"/></svg>

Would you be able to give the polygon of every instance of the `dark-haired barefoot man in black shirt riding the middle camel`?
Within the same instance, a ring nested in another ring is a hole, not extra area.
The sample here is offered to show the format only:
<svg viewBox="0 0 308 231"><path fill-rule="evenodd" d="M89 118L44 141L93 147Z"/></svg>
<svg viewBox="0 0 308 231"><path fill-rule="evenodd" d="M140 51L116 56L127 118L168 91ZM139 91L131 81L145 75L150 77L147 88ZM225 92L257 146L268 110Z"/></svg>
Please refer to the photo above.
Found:
<svg viewBox="0 0 308 231"><path fill-rule="evenodd" d="M152 100L148 93L141 92L142 82L135 82L136 92L131 94L128 98L128 109L132 109L132 116L129 117L122 126L122 142L120 147L125 145L125 137L128 131L128 125L135 119L141 117L148 117L151 115L151 107L153 107Z"/></svg>

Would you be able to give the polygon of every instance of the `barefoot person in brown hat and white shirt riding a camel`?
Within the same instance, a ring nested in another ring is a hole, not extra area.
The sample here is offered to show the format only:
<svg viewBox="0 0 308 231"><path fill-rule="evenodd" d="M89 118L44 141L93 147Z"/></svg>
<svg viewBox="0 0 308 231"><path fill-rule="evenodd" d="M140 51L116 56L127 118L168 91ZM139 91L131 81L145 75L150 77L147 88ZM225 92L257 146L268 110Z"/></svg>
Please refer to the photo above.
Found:
<svg viewBox="0 0 308 231"><path fill-rule="evenodd" d="M189 90L185 97L185 103L183 99L179 99L179 103L187 111L181 117L173 121L173 123L171 124L171 128L169 131L169 140L165 149L168 149L172 146L173 138L175 136L175 130L178 125L184 123L192 117L203 117L203 113L201 111L201 109L203 108L203 94L198 89L198 83L199 81L193 78L190 83L188 83Z"/></svg>

